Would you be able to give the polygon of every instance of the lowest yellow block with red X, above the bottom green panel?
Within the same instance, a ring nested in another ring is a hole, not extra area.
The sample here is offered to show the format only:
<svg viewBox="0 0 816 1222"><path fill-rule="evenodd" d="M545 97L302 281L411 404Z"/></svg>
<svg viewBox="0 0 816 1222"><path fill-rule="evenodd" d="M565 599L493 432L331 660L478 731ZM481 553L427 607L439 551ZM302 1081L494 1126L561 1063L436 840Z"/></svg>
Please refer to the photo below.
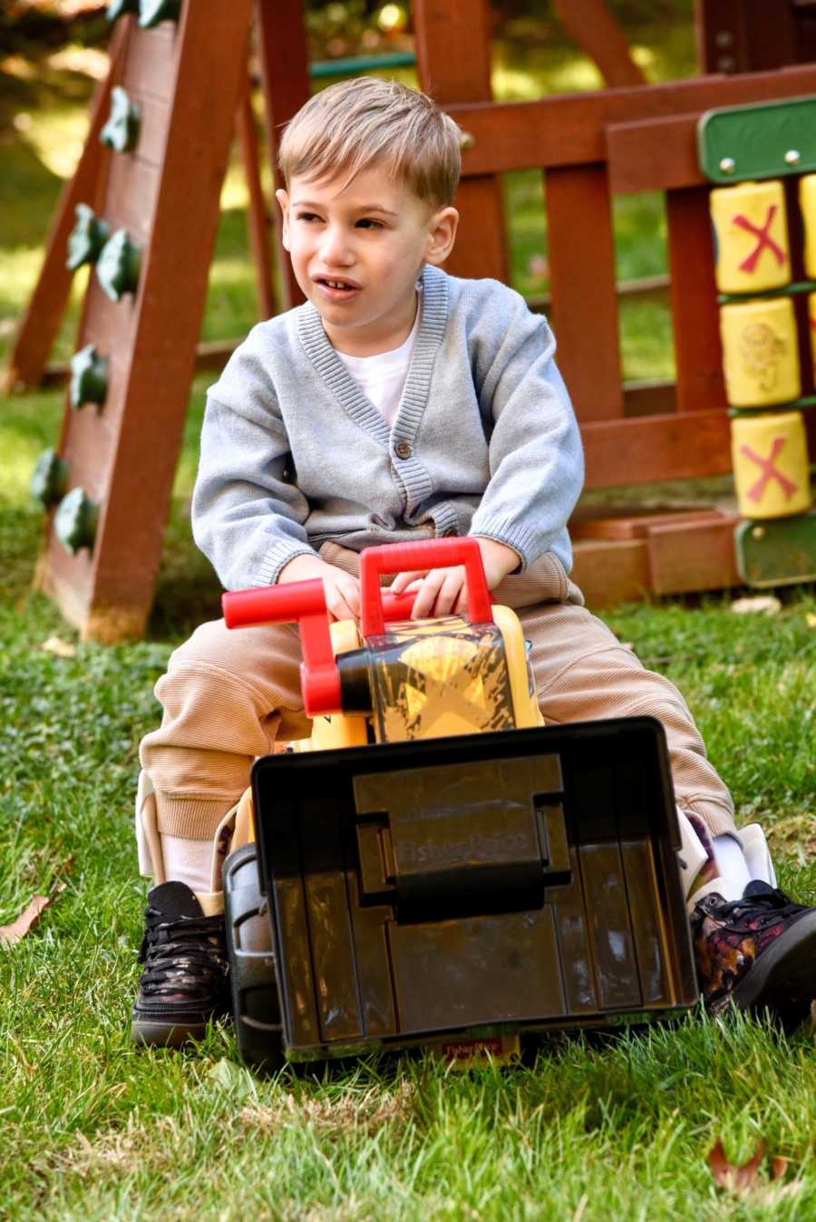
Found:
<svg viewBox="0 0 816 1222"><path fill-rule="evenodd" d="M784 518L810 507L807 441L801 412L735 419L730 448L743 517Z"/></svg>

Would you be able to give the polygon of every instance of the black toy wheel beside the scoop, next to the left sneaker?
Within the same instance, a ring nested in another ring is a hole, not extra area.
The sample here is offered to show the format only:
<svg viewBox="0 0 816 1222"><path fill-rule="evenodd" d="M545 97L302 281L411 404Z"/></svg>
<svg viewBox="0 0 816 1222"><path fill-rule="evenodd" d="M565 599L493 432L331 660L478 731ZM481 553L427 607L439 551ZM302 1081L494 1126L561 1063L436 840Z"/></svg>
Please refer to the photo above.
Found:
<svg viewBox="0 0 816 1222"><path fill-rule="evenodd" d="M244 844L224 863L224 914L232 1014L241 1058L274 1073L283 1064L283 1029L272 925L258 880L258 846Z"/></svg>

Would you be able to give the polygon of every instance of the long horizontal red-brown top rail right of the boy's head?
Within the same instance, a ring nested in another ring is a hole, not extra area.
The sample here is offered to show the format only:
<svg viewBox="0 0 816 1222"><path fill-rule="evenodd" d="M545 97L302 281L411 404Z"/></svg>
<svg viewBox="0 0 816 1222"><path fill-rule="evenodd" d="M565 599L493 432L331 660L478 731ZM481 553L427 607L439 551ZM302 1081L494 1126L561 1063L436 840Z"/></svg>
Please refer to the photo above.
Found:
<svg viewBox="0 0 816 1222"><path fill-rule="evenodd" d="M816 66L735 77L693 77L668 84L597 93L556 94L535 101L451 103L448 114L474 138L463 156L465 176L603 161L606 128L646 119L698 116L737 106L816 93Z"/></svg>

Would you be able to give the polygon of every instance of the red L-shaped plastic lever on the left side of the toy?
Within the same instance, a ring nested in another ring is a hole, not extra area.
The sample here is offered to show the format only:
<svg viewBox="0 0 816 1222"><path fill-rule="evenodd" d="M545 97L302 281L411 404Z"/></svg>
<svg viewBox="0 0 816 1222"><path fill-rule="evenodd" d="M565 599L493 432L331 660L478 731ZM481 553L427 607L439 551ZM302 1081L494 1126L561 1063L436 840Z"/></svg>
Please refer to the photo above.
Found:
<svg viewBox="0 0 816 1222"><path fill-rule="evenodd" d="M331 648L326 594L320 579L233 590L221 598L227 628L297 623L301 631L301 690L307 717L340 712L340 671Z"/></svg>

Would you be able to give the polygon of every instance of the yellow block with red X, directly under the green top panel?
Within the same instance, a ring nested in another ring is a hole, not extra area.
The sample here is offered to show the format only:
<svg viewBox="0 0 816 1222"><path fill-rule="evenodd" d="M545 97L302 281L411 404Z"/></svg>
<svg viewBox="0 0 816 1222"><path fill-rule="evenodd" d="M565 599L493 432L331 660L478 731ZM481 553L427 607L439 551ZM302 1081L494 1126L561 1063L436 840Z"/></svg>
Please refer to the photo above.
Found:
<svg viewBox="0 0 816 1222"><path fill-rule="evenodd" d="M790 284L788 219L778 178L712 191L711 220L721 293L757 293Z"/></svg>

